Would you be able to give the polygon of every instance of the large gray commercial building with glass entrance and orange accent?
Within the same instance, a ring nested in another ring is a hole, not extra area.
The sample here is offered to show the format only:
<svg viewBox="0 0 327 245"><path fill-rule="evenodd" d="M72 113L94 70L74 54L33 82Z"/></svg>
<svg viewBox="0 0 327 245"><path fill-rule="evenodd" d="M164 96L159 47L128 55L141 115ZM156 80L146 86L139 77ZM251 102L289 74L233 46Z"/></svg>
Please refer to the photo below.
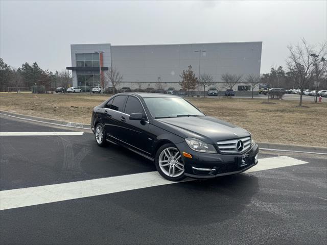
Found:
<svg viewBox="0 0 327 245"><path fill-rule="evenodd" d="M221 75L260 75L262 42L194 43L164 45L72 44L73 86L83 91L100 85L100 74L112 66L123 76L119 87L179 89L180 74L192 65L195 75L209 74L223 89ZM101 76L103 79L103 76ZM110 84L108 85L110 86ZM250 91L242 80L233 87ZM258 87L255 88L258 91Z"/></svg>

